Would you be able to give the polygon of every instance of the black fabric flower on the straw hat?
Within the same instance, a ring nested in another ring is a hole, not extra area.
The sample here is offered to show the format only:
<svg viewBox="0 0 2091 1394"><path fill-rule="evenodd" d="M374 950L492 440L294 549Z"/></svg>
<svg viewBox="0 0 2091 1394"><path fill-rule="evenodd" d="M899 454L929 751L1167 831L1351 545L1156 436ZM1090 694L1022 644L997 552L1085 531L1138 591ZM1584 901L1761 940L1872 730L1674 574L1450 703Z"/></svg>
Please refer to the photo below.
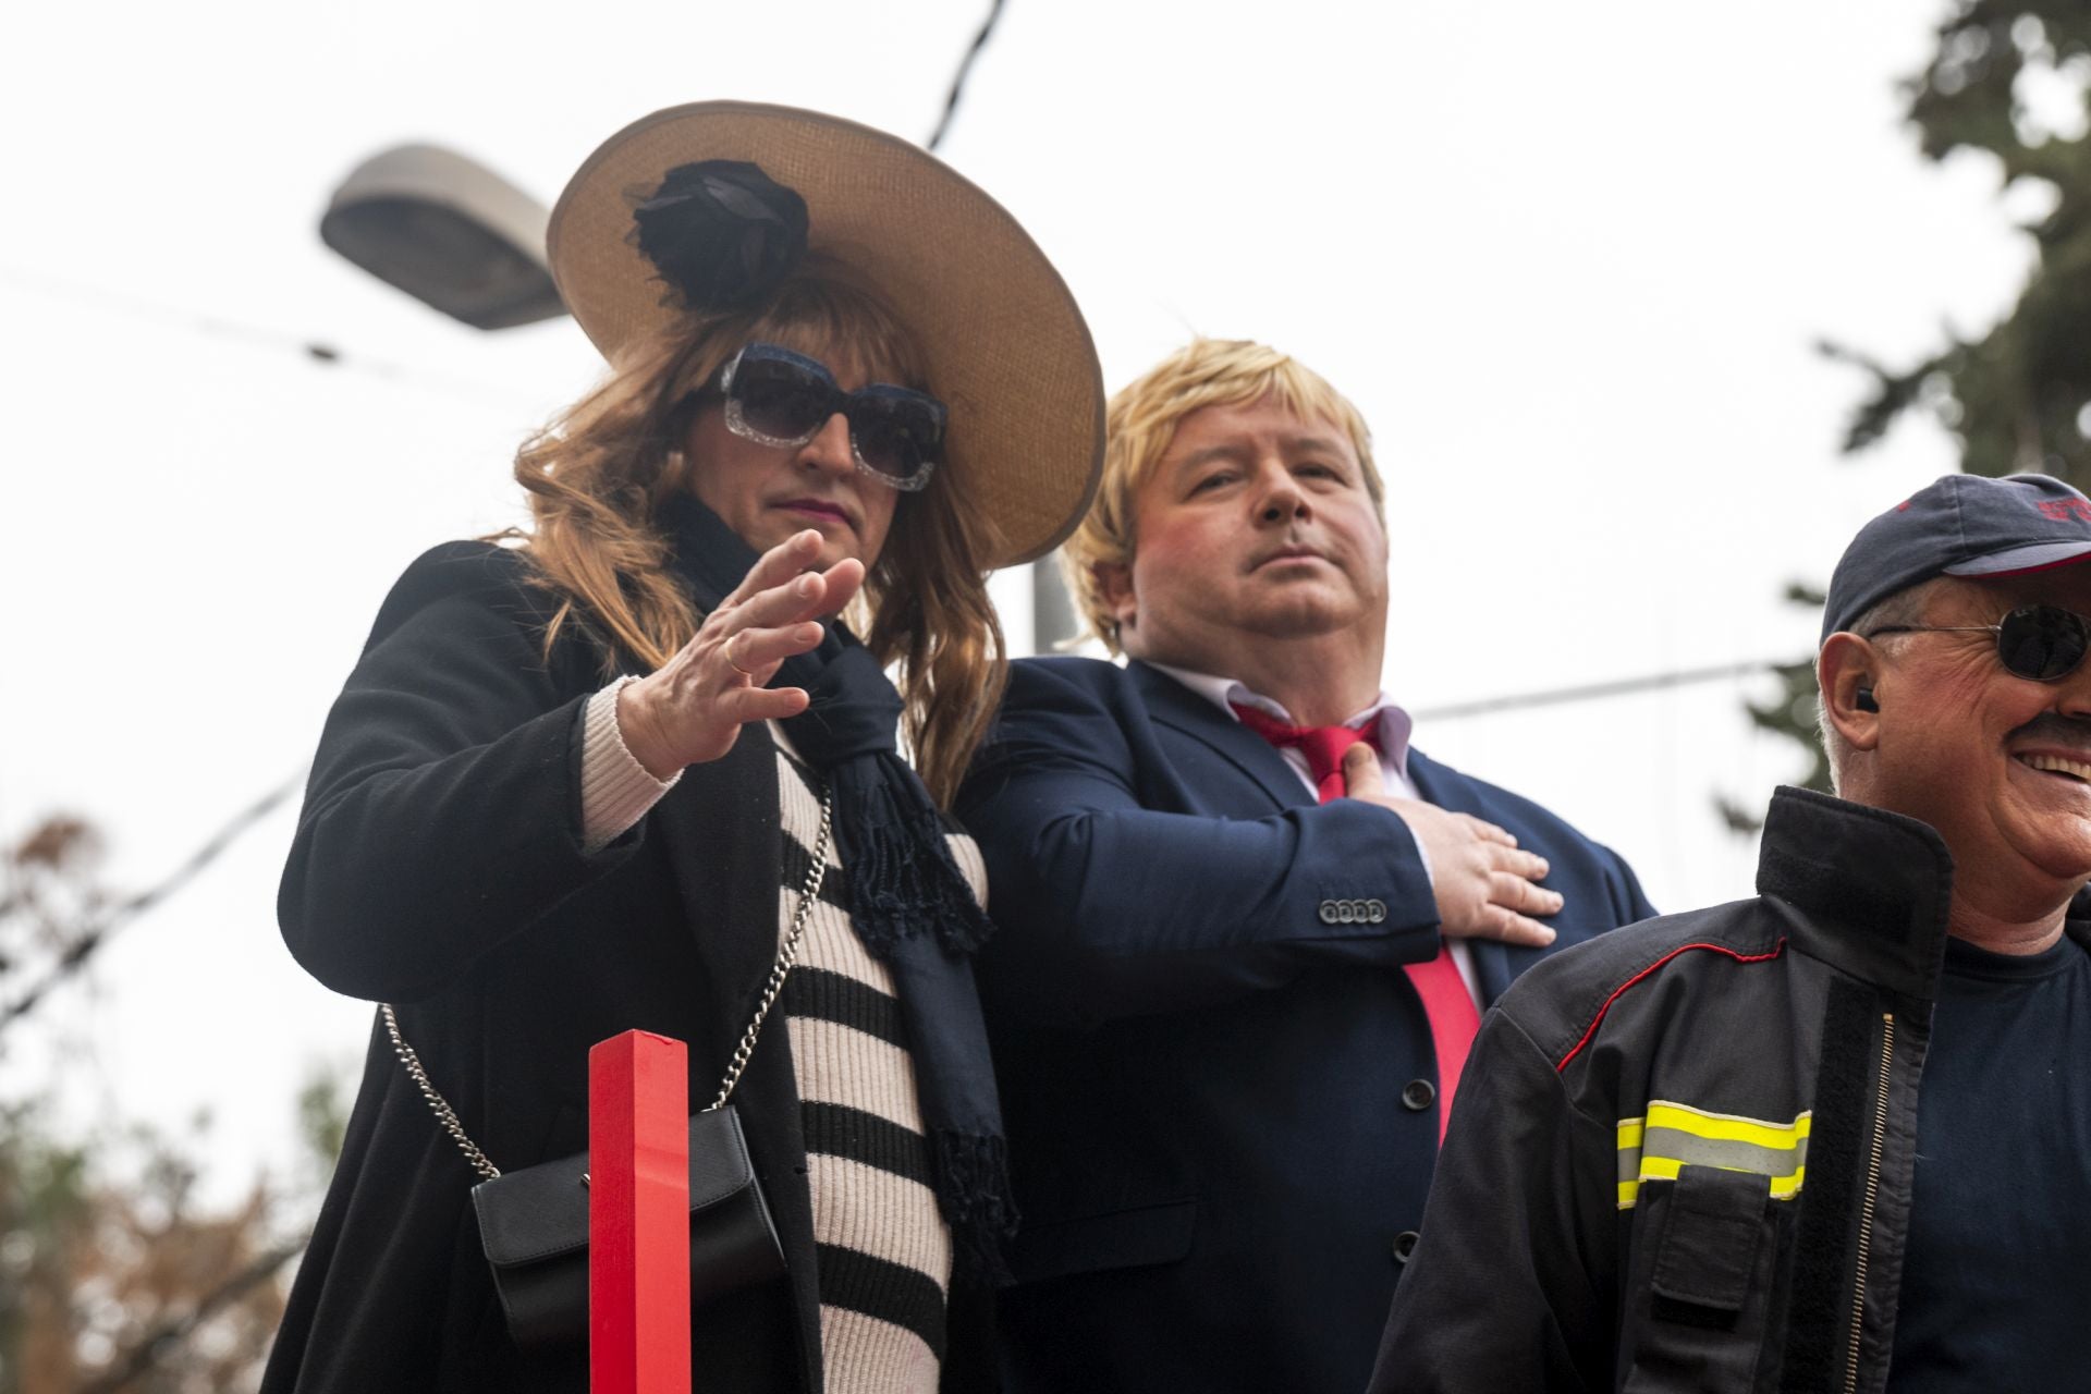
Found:
<svg viewBox="0 0 2091 1394"><path fill-rule="evenodd" d="M631 222L682 309L746 305L805 255L805 199L740 159L675 165Z"/></svg>

